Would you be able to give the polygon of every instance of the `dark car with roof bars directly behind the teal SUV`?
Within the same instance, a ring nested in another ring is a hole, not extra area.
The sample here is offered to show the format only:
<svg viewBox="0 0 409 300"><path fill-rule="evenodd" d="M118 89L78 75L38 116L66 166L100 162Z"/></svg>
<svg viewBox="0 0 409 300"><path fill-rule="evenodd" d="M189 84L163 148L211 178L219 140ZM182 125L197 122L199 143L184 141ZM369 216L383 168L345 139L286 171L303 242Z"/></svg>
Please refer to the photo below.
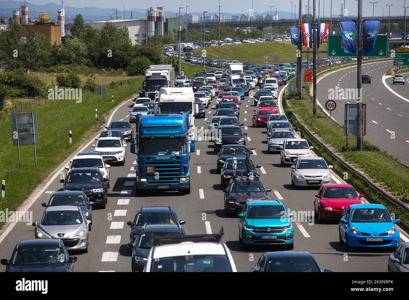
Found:
<svg viewBox="0 0 409 300"><path fill-rule="evenodd" d="M227 216L237 216L248 201L270 200L267 195L270 191L271 189L264 188L257 176L233 178L227 188L223 189L225 213Z"/></svg>

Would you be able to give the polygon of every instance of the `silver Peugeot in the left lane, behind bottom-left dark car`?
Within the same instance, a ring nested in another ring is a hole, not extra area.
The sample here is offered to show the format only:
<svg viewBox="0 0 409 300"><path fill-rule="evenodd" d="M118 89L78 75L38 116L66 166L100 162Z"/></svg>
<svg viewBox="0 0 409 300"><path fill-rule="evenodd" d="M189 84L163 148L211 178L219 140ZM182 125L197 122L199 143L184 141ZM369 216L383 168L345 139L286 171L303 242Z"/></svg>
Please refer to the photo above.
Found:
<svg viewBox="0 0 409 300"><path fill-rule="evenodd" d="M34 222L36 238L59 238L70 250L88 252L88 227L91 221L78 206L49 206L40 222Z"/></svg>

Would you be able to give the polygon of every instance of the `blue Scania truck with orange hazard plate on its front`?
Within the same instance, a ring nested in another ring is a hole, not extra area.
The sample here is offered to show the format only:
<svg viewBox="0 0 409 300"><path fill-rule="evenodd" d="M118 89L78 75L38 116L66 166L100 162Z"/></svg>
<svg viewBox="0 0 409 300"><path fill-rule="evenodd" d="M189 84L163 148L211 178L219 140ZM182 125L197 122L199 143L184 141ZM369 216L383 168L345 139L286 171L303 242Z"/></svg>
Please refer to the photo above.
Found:
<svg viewBox="0 0 409 300"><path fill-rule="evenodd" d="M188 131L188 113L137 115L136 136L130 147L137 156L137 193L190 193L189 158L195 152L195 139L189 142Z"/></svg>

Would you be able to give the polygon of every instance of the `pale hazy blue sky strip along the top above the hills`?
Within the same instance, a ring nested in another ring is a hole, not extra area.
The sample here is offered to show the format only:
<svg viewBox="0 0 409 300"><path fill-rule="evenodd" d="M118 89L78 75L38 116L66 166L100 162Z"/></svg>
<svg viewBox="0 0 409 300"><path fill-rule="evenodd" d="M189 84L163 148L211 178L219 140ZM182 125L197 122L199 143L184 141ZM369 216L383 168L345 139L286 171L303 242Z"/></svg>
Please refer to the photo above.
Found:
<svg viewBox="0 0 409 300"><path fill-rule="evenodd" d="M101 8L114 8L117 7L118 9L123 10L124 4L125 9L146 9L148 6L157 6L158 0L153 0L153 2L142 2L142 1L135 1L135 0L122 0L118 2L112 2L112 0L65 0L65 5L67 6L74 6L74 7L83 7L86 5L87 7L101 7ZM317 6L317 14L318 14L318 1L321 2L321 15L322 15L322 7L325 2L325 15L330 15L330 2L331 0L316 0ZM364 0L363 1L363 15L364 16L371 16L372 15L372 4L369 2L378 2L375 4L375 16L382 16L382 7L384 7L384 15L387 16L389 11L386 4L393 4L391 6L391 16L399 15L403 16L403 5L405 0ZM61 3L61 1L47 1L47 0L29 0L28 2L34 4L47 4L49 2L54 3ZM298 11L298 0L292 0L292 4L297 5ZM409 6L409 0L406 0L406 6ZM333 14L340 12L341 3L343 4L343 0L333 0ZM193 11L218 11L218 0L209 0L209 1L202 1L202 0L191 0L190 1L190 10ZM302 0L302 7L303 13L305 12L304 5L308 4L308 0ZM187 0L166 0L162 3L159 3L160 6L164 6L165 10L167 11L178 11L179 7L185 7L189 5L189 1ZM252 8L252 0L220 0L220 8L221 12L225 13L248 13L249 9ZM253 9L255 12L265 12L269 11L269 5L274 5L273 10L277 9L277 11L291 11L291 0L256 0L253 4ZM346 9L348 9L348 13L351 15L357 15L357 1L356 0L345 0ZM312 7L312 0L310 0L310 7ZM188 8L189 9L189 8ZM312 8L311 8L312 10ZM407 9L407 14L409 14L409 9Z"/></svg>

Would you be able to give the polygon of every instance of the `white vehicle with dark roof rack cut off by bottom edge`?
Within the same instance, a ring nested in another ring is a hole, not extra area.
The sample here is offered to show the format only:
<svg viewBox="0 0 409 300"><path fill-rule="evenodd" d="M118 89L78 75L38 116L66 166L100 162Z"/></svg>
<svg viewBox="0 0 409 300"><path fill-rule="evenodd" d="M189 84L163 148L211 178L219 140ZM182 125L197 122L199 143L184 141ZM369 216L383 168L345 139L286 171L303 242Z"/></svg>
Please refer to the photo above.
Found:
<svg viewBox="0 0 409 300"><path fill-rule="evenodd" d="M154 237L144 272L237 272L221 235Z"/></svg>

